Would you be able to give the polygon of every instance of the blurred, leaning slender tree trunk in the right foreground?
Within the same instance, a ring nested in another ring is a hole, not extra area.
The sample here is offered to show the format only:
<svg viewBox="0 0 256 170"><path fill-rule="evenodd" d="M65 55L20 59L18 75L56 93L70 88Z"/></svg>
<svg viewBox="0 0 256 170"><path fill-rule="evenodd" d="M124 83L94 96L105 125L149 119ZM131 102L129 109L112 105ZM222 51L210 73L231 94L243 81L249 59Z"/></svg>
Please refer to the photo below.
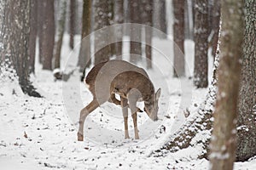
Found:
<svg viewBox="0 0 256 170"><path fill-rule="evenodd" d="M242 4L243 0L237 0L236 3L232 0L221 2L223 25L220 37L218 94L213 113L214 123L209 156L212 164L210 167L213 170L233 169L236 157L237 101L244 33Z"/></svg>

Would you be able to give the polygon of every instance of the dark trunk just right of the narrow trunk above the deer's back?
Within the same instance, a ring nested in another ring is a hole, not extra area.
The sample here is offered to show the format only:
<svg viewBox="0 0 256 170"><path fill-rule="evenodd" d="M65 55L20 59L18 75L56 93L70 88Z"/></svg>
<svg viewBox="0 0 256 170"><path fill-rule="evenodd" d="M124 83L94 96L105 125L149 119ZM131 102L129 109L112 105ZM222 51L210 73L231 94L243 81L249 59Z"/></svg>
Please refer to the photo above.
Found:
<svg viewBox="0 0 256 170"><path fill-rule="evenodd" d="M142 12L142 10L140 9L140 3L141 1L137 1L137 0L131 0L129 1L130 3L130 20L131 23L137 23L140 24L141 20L140 20L140 15L138 14L138 11L140 11L139 13ZM130 35L130 61L131 63L136 64L140 59L142 59L142 29L136 27L133 28L131 26L131 35Z"/></svg>

